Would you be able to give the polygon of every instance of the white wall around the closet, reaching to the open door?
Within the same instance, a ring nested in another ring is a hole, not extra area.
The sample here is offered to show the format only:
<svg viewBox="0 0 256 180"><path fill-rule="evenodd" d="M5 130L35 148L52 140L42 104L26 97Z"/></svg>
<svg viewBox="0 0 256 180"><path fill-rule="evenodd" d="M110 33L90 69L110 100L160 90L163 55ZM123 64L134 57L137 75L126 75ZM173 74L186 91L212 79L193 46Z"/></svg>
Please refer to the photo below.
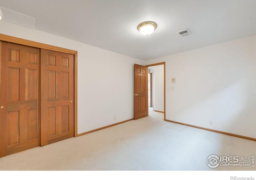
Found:
<svg viewBox="0 0 256 180"><path fill-rule="evenodd" d="M134 118L133 67L144 61L5 21L0 33L78 51L78 134Z"/></svg>

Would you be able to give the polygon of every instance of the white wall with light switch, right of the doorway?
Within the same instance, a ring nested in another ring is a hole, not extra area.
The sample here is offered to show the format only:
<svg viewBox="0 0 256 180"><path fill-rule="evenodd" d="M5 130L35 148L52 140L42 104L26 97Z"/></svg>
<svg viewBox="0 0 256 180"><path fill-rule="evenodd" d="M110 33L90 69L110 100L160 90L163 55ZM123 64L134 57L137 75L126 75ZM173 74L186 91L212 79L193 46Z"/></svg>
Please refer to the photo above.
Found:
<svg viewBox="0 0 256 180"><path fill-rule="evenodd" d="M147 64L157 62L166 62L166 119L256 138L256 36Z"/></svg>

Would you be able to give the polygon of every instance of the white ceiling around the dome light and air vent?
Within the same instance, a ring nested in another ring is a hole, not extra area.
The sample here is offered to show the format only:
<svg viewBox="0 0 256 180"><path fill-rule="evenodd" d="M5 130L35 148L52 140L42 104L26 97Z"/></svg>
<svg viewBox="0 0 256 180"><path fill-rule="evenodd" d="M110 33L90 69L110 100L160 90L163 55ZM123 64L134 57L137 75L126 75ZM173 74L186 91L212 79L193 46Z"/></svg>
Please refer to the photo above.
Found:
<svg viewBox="0 0 256 180"><path fill-rule="evenodd" d="M256 34L256 0L1 0L36 29L142 60ZM154 21L153 34L137 26ZM188 28L189 36L177 32Z"/></svg>

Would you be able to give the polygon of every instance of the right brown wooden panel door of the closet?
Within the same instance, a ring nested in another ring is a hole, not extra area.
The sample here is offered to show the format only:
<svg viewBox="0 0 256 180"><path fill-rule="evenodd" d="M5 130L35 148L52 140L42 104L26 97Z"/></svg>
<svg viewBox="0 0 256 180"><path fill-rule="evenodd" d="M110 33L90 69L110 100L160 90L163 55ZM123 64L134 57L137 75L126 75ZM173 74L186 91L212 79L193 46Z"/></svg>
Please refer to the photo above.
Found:
<svg viewBox="0 0 256 180"><path fill-rule="evenodd" d="M74 55L41 49L41 146L74 137Z"/></svg>

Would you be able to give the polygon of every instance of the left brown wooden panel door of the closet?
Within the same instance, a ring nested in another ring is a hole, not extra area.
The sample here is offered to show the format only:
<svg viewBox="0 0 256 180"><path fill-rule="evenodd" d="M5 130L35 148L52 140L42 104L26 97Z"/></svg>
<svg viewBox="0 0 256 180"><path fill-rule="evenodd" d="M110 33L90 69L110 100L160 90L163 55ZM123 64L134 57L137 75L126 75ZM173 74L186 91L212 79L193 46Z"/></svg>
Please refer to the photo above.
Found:
<svg viewBox="0 0 256 180"><path fill-rule="evenodd" d="M40 146L40 51L0 42L0 157Z"/></svg>

